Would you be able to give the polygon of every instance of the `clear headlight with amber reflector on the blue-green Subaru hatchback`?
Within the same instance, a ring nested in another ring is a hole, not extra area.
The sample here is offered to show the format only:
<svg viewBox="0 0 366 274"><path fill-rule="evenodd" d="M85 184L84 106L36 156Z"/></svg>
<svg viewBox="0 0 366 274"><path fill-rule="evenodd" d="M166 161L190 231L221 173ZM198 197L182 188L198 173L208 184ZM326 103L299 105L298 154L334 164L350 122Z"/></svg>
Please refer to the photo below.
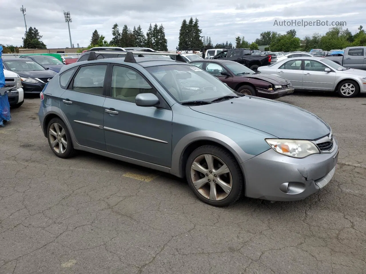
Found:
<svg viewBox="0 0 366 274"><path fill-rule="evenodd" d="M307 140L265 139L276 152L295 158L320 153L318 147Z"/></svg>

